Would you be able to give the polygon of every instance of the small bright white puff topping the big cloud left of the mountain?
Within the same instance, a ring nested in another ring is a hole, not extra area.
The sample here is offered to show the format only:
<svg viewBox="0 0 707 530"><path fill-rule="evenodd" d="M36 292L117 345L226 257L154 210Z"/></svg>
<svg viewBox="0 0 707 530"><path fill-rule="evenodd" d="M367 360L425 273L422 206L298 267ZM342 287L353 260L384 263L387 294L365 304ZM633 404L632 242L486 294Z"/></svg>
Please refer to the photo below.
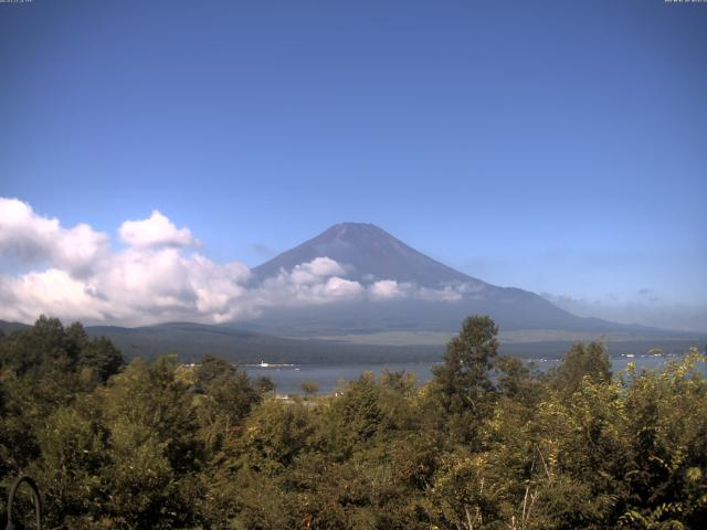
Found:
<svg viewBox="0 0 707 530"><path fill-rule="evenodd" d="M177 230L177 226L158 210L154 210L149 219L125 221L120 225L118 233L124 243L136 247L187 247L199 245L189 229Z"/></svg>

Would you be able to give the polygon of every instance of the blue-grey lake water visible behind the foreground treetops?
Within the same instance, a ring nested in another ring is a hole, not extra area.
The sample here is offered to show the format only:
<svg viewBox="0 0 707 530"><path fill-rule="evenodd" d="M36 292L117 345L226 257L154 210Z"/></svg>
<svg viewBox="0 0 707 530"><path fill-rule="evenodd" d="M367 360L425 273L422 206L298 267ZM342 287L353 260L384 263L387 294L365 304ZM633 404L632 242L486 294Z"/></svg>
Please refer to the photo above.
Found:
<svg viewBox="0 0 707 530"><path fill-rule="evenodd" d="M639 369L661 368L668 360L677 360L678 357L620 357L611 359L614 372L624 370L630 361L636 363ZM547 370L557 364L557 359L535 359L537 368ZM251 378L267 377L275 383L277 394L300 394L299 385L304 381L316 381L319 384L319 393L334 392L341 381L358 379L363 372L373 372L380 375L383 370L413 372L419 383L425 383L432 378L432 362L421 363L389 363L389 364L293 364L293 365L261 365L243 367ZM704 367L703 367L704 368Z"/></svg>

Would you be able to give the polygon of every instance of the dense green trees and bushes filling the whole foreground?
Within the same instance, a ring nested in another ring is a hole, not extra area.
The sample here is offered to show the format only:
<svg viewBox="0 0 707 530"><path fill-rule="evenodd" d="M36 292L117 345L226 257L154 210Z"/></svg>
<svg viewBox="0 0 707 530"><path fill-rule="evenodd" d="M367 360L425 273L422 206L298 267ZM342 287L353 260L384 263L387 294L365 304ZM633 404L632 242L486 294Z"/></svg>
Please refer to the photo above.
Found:
<svg viewBox="0 0 707 530"><path fill-rule="evenodd" d="M704 356L612 374L578 343L539 374L496 333L466 319L422 386L283 400L41 318L0 337L0 480L35 477L48 528L707 528Z"/></svg>

